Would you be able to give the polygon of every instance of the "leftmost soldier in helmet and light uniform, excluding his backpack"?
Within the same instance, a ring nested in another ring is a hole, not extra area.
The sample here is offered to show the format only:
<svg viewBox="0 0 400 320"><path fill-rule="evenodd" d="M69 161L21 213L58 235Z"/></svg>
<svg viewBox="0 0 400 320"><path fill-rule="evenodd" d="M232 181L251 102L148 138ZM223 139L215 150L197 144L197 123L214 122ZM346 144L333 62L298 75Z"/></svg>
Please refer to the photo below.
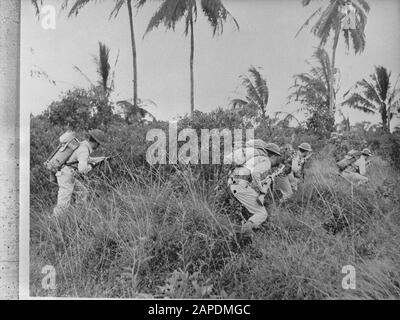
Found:
<svg viewBox="0 0 400 320"><path fill-rule="evenodd" d="M55 216L60 215L69 207L74 191L76 192L77 201L86 201L88 190L82 182L77 179L77 175L86 175L92 170L95 163L104 159L104 157L90 157L90 154L96 150L100 144L105 142L106 136L103 131L99 129L90 130L88 140L79 143L77 149L72 152L68 160L66 160L56 173L58 195L57 205L53 210Z"/></svg>

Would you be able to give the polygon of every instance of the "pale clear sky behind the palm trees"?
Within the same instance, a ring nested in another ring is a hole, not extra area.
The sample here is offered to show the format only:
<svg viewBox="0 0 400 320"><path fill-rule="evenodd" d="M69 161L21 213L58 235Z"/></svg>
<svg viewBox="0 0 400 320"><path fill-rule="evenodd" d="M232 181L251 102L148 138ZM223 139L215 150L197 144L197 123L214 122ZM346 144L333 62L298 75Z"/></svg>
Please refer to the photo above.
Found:
<svg viewBox="0 0 400 320"><path fill-rule="evenodd" d="M73 0L70 0L72 3ZM134 1L133 1L134 2ZM243 97L239 76L254 65L262 68L270 91L268 114L293 112L296 105L287 104L293 75L306 72L317 39L300 26L326 1L302 7L300 0L225 0L224 4L236 18L240 29L229 21L221 36L212 29L199 11L195 24L195 108L211 111L229 107L233 98ZM363 53L347 52L343 38L339 39L336 66L341 71L341 91L338 101L354 83L368 77L375 65L392 72L395 82L400 74L400 1L369 0L371 11L366 26L367 45ZM91 81L97 81L93 56L98 42L111 48L111 65L119 53L115 67L113 100L132 98L132 55L128 11L124 6L119 15L109 20L114 1L89 4L77 17L67 18L61 10L62 1L45 0L57 11L55 30L45 30L35 17L30 0L22 0L21 26L21 110L39 114L62 92L74 87L89 87L89 82L74 69L78 66ZM148 110L157 119L173 120L189 113L190 39L184 35L184 25L174 31L163 26L144 37L147 24L159 6L150 1L139 11L135 9L134 24L137 42L138 92L143 100L157 106ZM327 50L331 53L328 44ZM43 70L56 81L31 76L32 70ZM379 116L343 109L352 123L378 122ZM300 116L301 117L301 116ZM400 121L398 121L400 123Z"/></svg>

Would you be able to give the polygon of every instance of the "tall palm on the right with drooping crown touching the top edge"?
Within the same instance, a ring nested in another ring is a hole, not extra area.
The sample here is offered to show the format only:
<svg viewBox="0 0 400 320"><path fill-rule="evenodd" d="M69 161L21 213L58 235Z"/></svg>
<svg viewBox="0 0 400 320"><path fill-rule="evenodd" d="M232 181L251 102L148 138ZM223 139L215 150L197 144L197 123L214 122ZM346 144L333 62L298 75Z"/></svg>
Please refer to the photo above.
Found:
<svg viewBox="0 0 400 320"><path fill-rule="evenodd" d="M303 6L310 4L312 0L302 0ZM320 39L320 47L324 47L327 43L329 36L333 33L333 46L332 46L332 57L331 57L331 82L333 83L333 75L335 73L335 60L336 60L336 49L339 42L339 36L341 31L341 20L344 17L342 13L343 5L346 2L351 3L355 8L355 18L356 18L356 28L350 30L343 30L344 41L346 47L350 48L350 42L353 45L354 52L361 53L365 48L365 26L367 24L367 13L370 10L368 2L366 0L326 0L326 7L318 8L303 24L299 32L306 27L313 18L318 17L318 20L311 28L311 32ZM333 86L330 87L329 91L329 110L334 115L335 114L335 93Z"/></svg>

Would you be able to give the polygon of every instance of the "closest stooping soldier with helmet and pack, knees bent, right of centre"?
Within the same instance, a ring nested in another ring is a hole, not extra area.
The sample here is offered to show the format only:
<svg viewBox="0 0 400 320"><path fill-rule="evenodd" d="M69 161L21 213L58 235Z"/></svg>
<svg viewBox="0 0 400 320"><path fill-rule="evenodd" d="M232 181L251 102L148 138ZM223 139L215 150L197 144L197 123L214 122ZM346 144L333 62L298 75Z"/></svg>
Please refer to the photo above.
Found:
<svg viewBox="0 0 400 320"><path fill-rule="evenodd" d="M267 143L260 139L249 140L246 148L238 149L226 157L235 165L228 179L230 191L252 214L242 225L241 233L258 228L268 217L263 205L263 195L267 190L261 183L263 175L271 168L266 147Z"/></svg>

